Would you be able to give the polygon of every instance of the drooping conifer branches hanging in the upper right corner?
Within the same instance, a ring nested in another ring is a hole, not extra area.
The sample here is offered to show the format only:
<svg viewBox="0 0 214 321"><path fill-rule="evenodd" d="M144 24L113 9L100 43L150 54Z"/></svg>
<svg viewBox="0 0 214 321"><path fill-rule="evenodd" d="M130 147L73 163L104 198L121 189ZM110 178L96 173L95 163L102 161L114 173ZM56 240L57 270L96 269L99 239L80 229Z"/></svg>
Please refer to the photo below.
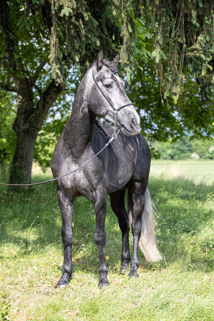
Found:
<svg viewBox="0 0 214 321"><path fill-rule="evenodd" d="M189 66L203 98L213 99L213 0L136 2L154 31L152 58L161 96L163 93L166 100L170 96L177 103L185 86L184 66Z"/></svg>

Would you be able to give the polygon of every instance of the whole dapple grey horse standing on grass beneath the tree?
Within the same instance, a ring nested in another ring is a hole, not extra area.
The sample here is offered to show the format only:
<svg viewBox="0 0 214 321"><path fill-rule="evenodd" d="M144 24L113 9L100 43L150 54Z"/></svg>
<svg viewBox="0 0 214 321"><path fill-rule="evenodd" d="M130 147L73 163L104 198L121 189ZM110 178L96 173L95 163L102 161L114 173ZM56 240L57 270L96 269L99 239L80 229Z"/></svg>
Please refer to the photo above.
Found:
<svg viewBox="0 0 214 321"><path fill-rule="evenodd" d="M95 123L96 115L115 123L116 110L116 123L121 129L117 139L80 170L56 181L64 245L62 277L57 282L59 287L66 286L72 275L73 204L78 196L85 196L95 208L94 241L99 250L100 286L109 284L104 253L107 193L122 232L121 271L128 269L130 261L129 224L133 235L129 276L138 276L138 244L147 261L161 259L148 190L151 153L140 134L140 118L128 99L124 81L118 76L118 63L119 55L110 62L100 51L97 61L80 82L71 116L53 153L51 170L54 178L81 166L107 142L106 135ZM114 126L103 128L109 137L113 135ZM124 200L127 189L128 213Z"/></svg>

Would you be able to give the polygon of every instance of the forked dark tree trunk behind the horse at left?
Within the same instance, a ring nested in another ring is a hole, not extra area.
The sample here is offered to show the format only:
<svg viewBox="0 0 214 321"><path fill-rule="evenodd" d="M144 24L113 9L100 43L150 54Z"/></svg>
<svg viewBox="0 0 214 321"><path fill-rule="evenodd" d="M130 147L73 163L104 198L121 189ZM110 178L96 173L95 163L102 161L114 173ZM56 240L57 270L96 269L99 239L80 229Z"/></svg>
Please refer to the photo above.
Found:
<svg viewBox="0 0 214 321"><path fill-rule="evenodd" d="M63 90L64 84L56 86L52 80L47 88L40 92L40 100L34 106L34 84L31 80L14 77L14 82L18 94L18 112L13 123L17 141L10 168L9 183L29 184L38 132L50 107Z"/></svg>

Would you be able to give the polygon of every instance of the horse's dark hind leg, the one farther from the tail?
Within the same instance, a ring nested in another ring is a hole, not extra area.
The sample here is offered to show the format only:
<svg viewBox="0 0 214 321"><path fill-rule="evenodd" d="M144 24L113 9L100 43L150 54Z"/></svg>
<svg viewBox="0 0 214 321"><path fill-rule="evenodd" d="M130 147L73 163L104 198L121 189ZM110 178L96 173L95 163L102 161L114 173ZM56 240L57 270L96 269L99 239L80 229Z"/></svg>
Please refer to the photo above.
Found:
<svg viewBox="0 0 214 321"><path fill-rule="evenodd" d="M128 224L128 214L125 207L125 192L126 191L117 191L109 194L111 200L111 207L113 212L118 218L119 226L122 232L122 264L120 271L125 272L128 270L128 263L130 261L129 253L129 224Z"/></svg>

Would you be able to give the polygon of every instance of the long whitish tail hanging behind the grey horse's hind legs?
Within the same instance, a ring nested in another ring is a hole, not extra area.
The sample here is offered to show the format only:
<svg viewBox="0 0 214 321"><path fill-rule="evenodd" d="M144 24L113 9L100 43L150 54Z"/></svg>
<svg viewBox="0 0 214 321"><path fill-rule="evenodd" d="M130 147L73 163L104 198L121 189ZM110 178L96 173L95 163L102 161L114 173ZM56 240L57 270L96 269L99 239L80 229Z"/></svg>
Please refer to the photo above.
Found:
<svg viewBox="0 0 214 321"><path fill-rule="evenodd" d="M128 218L129 224L132 222L133 205L130 192L128 191ZM151 200L148 186L144 196L144 210L142 214L142 228L139 239L139 248L143 252L146 261L157 262L162 260L161 253L156 245L156 237L154 230L154 204Z"/></svg>

